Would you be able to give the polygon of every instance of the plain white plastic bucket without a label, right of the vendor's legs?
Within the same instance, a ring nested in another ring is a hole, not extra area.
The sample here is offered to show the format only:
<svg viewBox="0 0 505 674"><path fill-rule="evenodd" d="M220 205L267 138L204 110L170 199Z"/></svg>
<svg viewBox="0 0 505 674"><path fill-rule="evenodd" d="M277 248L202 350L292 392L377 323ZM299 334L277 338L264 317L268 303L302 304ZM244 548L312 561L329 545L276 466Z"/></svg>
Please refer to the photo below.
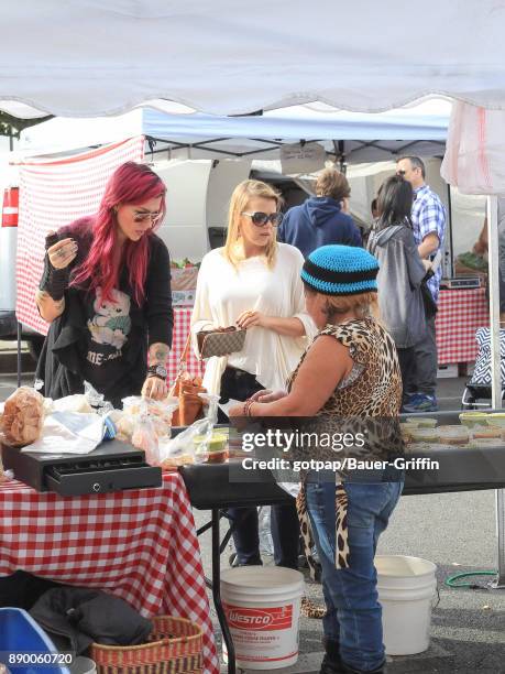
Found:
<svg viewBox="0 0 505 674"><path fill-rule="evenodd" d="M386 653L422 653L429 646L437 566L420 557L376 555L375 567Z"/></svg>

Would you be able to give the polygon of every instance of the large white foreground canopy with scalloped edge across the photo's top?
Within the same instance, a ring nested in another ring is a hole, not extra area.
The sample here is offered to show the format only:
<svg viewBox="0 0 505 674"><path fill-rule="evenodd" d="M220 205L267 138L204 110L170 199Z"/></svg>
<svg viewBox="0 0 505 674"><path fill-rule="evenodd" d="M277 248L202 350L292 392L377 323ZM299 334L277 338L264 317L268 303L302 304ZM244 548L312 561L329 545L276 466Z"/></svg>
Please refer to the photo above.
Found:
<svg viewBox="0 0 505 674"><path fill-rule="evenodd" d="M505 108L504 21L497 0L17 0L0 96L69 117L153 98L212 115L315 100L376 112L427 95Z"/></svg>

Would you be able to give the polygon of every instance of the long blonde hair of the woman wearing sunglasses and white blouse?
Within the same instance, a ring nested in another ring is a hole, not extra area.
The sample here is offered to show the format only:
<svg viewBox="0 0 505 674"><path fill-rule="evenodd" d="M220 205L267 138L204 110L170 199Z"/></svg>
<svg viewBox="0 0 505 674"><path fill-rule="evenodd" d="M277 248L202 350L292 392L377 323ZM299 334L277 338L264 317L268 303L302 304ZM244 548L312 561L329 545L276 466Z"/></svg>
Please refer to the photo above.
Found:
<svg viewBox="0 0 505 674"><path fill-rule="evenodd" d="M230 208L228 210L228 233L224 243L223 256L233 265L241 261L237 243L240 239L240 218L242 211L248 207L250 199L263 198L274 199L278 209L282 203L281 195L273 187L261 181L243 181L233 189L230 198ZM272 269L275 264L275 254L277 252L277 239L274 237L265 248L266 265Z"/></svg>

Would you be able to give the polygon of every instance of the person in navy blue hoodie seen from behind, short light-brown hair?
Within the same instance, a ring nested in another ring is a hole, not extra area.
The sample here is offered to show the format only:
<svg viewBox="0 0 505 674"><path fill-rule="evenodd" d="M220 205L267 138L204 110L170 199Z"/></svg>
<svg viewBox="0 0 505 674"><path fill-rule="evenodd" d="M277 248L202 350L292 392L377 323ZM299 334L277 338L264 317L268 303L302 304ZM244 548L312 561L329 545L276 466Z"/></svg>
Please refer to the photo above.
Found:
<svg viewBox="0 0 505 674"><path fill-rule="evenodd" d="M295 246L304 258L329 243L362 247L360 230L342 208L350 194L347 177L336 168L325 168L316 182L316 196L289 208L277 239Z"/></svg>

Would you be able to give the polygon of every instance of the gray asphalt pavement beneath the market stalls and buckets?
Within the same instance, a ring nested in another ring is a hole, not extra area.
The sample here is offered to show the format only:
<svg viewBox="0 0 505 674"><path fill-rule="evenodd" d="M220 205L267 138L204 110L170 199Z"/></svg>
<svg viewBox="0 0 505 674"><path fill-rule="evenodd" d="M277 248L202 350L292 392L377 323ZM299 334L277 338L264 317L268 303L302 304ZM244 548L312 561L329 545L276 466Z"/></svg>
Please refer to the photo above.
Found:
<svg viewBox="0 0 505 674"><path fill-rule="evenodd" d="M26 365L25 369L31 368ZM33 374L23 374L23 383L32 381ZM15 387L12 361L0 357L0 401ZM440 409L459 410L463 387L464 379L440 379ZM195 511L195 519L200 525L208 517ZM204 566L210 575L208 533L200 545ZM438 605L432 611L430 646L419 655L388 657L391 674L505 674L505 589L452 589L444 585L457 573L496 568L494 491L403 497L381 537L378 553L422 557L433 562L438 569L439 600L433 601ZM222 555L223 567L228 566L228 552ZM272 559L265 556L264 562L271 564ZM476 581L484 586L486 577ZM307 583L306 590L310 598L322 601L320 585ZM213 620L220 644L215 613ZM319 672L321 634L320 620L301 618L299 661L278 672ZM222 672L226 671L223 667Z"/></svg>

